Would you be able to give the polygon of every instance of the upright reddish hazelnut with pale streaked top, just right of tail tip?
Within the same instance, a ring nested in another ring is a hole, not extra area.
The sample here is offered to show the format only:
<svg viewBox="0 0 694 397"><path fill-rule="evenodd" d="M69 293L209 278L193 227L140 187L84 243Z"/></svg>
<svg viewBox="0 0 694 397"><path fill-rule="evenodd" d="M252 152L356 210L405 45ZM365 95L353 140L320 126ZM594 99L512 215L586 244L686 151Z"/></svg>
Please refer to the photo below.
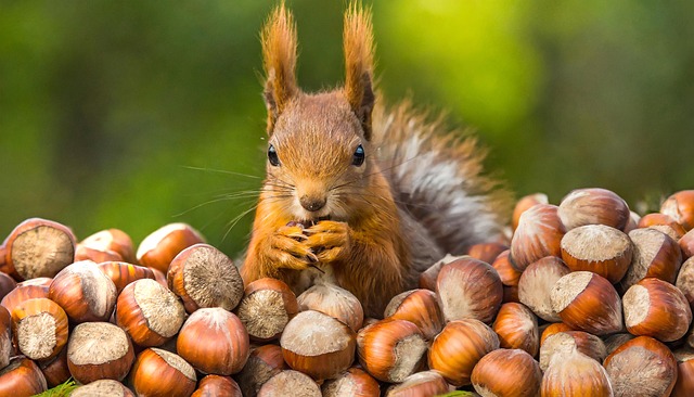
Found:
<svg viewBox="0 0 694 397"><path fill-rule="evenodd" d="M560 243L566 228L557 206L537 204L520 215L511 239L511 262L519 271L545 256L561 256Z"/></svg>

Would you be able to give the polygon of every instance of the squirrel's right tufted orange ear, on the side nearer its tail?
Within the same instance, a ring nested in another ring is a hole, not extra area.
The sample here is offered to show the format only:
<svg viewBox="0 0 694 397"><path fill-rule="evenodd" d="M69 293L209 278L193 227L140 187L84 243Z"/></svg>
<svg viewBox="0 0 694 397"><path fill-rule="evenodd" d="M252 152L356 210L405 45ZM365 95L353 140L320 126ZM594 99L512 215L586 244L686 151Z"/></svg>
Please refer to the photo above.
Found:
<svg viewBox="0 0 694 397"><path fill-rule="evenodd" d="M373 92L373 29L371 12L363 10L358 1L351 2L345 13L345 95L361 121L364 139L371 140L371 113L375 95Z"/></svg>

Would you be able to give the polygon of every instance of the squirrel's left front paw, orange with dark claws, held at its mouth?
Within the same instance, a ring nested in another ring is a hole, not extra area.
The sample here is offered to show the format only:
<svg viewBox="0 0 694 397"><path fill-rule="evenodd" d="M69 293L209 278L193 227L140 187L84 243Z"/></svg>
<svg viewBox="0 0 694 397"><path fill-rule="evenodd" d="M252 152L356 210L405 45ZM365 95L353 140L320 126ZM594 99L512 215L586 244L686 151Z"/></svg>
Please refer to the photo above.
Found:
<svg viewBox="0 0 694 397"><path fill-rule="evenodd" d="M318 256L306 245L308 236L300 226L283 226L270 235L270 260L278 267L304 270L318 262Z"/></svg>

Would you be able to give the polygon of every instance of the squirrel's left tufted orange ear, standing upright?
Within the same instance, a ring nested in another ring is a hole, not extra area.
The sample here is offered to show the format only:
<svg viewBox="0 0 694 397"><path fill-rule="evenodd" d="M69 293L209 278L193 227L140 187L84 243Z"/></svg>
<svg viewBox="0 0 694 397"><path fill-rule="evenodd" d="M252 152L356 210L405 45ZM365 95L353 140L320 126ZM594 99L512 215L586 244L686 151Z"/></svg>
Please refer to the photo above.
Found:
<svg viewBox="0 0 694 397"><path fill-rule="evenodd" d="M268 108L268 133L298 88L296 67L296 25L282 2L274 9L260 35L266 73L265 103Z"/></svg>

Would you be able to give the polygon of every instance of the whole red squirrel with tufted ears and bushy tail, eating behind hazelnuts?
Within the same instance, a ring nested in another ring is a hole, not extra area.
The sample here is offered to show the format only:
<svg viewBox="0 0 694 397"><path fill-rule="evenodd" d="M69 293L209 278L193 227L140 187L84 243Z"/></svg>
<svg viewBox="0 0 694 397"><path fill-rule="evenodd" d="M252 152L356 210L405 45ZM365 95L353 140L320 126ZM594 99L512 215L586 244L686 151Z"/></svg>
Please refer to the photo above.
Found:
<svg viewBox="0 0 694 397"><path fill-rule="evenodd" d="M445 254L497 239L509 200L481 174L485 152L473 138L409 103L377 103L372 35L370 12L350 4L345 85L306 93L291 12L281 4L266 23L267 178L242 276L283 280L297 294L333 282L382 318Z"/></svg>

